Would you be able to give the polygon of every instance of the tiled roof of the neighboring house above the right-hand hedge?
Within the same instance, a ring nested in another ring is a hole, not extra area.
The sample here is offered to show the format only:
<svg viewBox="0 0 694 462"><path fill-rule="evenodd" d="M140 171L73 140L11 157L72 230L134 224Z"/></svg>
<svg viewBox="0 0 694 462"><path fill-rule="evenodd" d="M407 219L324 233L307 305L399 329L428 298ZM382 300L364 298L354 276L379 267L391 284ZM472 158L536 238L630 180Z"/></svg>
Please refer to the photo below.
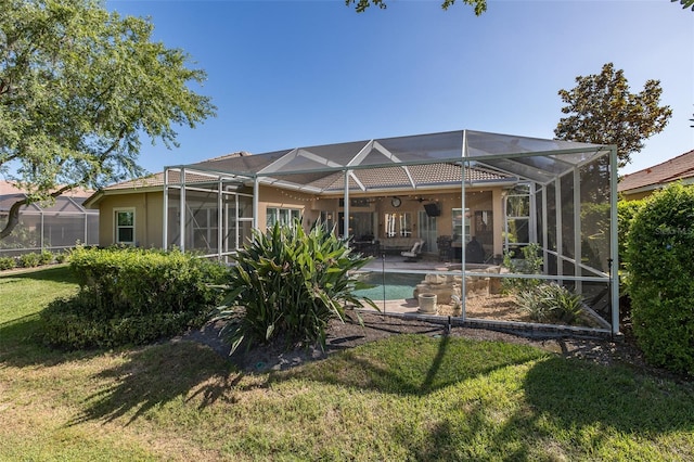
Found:
<svg viewBox="0 0 694 462"><path fill-rule="evenodd" d="M661 164L625 175L617 190L621 197L633 201L646 197L676 181L694 184L694 150Z"/></svg>

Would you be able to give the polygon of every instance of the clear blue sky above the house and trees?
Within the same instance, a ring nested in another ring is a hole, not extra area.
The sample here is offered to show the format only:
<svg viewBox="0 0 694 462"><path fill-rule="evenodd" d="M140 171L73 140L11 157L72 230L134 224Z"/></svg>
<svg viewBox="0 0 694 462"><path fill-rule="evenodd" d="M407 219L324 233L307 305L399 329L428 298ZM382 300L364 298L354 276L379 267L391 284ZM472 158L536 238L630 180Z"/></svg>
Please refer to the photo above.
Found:
<svg viewBox="0 0 694 462"><path fill-rule="evenodd" d="M150 16L155 40L207 72L196 91L217 117L181 128L181 146L143 144L141 165L472 129L553 138L560 89L613 62L632 92L660 80L673 110L620 174L694 149L694 12L669 0L390 0L357 14L342 0L108 0Z"/></svg>

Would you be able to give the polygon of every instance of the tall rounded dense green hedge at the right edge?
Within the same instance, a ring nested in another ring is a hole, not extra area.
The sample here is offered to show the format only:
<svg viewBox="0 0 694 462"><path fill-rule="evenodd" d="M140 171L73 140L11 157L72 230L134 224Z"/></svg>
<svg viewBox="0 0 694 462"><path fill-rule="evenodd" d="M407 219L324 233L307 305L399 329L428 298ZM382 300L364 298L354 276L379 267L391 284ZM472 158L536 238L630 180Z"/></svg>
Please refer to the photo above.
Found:
<svg viewBox="0 0 694 462"><path fill-rule="evenodd" d="M694 189L672 184L633 217L627 242L631 316L646 359L694 374Z"/></svg>

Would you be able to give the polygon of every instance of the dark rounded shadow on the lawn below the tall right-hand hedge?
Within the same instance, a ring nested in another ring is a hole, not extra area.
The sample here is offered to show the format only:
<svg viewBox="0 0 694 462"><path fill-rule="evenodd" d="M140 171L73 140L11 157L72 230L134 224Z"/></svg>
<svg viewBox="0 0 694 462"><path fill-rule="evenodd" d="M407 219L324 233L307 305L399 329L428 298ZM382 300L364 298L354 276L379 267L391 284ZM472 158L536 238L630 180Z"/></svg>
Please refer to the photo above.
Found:
<svg viewBox="0 0 694 462"><path fill-rule="evenodd" d="M694 431L694 384L642 375L627 367L604 367L551 358L535 365L527 399L560 427L600 423L626 433Z"/></svg>

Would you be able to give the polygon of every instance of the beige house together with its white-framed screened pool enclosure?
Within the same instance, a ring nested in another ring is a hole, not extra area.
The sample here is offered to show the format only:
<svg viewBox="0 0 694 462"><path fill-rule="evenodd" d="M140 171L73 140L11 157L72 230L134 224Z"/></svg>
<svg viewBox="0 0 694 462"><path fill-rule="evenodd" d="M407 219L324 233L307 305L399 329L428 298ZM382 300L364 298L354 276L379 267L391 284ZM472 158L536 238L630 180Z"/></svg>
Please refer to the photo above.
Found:
<svg viewBox="0 0 694 462"><path fill-rule="evenodd" d="M615 146L455 130L236 152L110 185L85 205L101 213L101 245L221 260L253 230L295 219L321 220L372 255L424 241L429 259L466 274L538 244L540 278L570 285L616 333L616 163Z"/></svg>

